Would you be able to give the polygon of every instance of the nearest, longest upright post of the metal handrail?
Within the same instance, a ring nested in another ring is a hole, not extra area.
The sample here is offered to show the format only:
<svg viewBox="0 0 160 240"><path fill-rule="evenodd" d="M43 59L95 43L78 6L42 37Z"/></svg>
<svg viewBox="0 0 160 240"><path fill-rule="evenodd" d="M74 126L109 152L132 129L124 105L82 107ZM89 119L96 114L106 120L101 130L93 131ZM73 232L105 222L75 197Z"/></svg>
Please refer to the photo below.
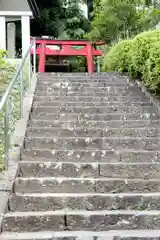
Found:
<svg viewBox="0 0 160 240"><path fill-rule="evenodd" d="M5 103L5 116L4 116L4 154L5 154L5 169L8 169L9 159L9 98Z"/></svg>

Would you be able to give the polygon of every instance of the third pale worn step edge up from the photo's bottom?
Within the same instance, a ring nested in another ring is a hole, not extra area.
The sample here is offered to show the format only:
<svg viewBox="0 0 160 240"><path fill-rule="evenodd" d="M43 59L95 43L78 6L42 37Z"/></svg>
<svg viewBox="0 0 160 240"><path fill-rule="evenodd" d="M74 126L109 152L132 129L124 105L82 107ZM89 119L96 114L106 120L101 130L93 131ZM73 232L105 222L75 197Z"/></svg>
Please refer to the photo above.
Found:
<svg viewBox="0 0 160 240"><path fill-rule="evenodd" d="M65 197L160 197L160 192L154 192L154 193L133 193L133 192L126 192L126 193L14 193L13 194L16 197L38 197L38 198L65 198ZM12 195L10 196L12 197Z"/></svg>

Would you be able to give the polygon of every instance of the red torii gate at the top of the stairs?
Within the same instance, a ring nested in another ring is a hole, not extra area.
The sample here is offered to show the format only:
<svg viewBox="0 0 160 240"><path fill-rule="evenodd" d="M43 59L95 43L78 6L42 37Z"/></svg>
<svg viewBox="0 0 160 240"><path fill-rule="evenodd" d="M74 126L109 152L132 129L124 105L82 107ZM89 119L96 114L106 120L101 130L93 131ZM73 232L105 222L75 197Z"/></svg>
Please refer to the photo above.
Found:
<svg viewBox="0 0 160 240"><path fill-rule="evenodd" d="M97 42L95 45L103 45L103 42ZM54 50L51 45L58 46L60 49ZM73 46L82 46L81 49L75 49ZM33 49L31 54L33 54ZM94 56L102 56L102 52L95 49L93 44L87 40L56 40L56 39L36 39L36 54L39 55L38 71L45 72L46 55L49 56L85 56L87 59L88 72L94 72Z"/></svg>

